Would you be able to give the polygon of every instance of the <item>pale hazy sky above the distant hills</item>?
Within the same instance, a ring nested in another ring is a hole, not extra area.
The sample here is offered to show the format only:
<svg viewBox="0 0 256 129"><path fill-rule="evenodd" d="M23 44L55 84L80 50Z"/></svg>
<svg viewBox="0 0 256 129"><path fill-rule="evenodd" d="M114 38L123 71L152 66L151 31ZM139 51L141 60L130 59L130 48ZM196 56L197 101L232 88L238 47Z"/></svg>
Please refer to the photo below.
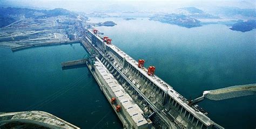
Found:
<svg viewBox="0 0 256 129"><path fill-rule="evenodd" d="M235 6L239 8L255 8L255 0L0 0L0 5L34 7L39 9L64 8L73 11L164 11L185 6L196 6L199 9L213 6Z"/></svg>

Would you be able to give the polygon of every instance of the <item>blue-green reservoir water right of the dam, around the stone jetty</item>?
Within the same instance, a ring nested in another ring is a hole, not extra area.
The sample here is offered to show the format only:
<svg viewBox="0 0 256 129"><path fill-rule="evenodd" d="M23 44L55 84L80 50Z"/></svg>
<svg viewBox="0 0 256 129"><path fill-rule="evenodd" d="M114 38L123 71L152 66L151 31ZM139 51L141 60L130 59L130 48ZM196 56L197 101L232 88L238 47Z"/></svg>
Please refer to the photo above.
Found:
<svg viewBox="0 0 256 129"><path fill-rule="evenodd" d="M204 90L256 82L256 30L232 31L212 24L185 28L147 18L90 18L111 20L113 27L97 27L132 58L156 66L156 75L187 99ZM255 128L256 96L199 103L208 116L225 128Z"/></svg>

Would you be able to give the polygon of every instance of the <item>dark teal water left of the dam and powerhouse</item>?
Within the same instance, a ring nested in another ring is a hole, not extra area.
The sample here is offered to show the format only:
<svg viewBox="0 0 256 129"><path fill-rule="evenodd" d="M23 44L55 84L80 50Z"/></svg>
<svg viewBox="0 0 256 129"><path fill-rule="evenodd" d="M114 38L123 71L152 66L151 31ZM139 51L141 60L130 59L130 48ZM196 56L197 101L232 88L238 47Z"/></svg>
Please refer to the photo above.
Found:
<svg viewBox="0 0 256 129"><path fill-rule="evenodd" d="M0 112L41 110L81 128L121 128L86 67L62 70L61 62L84 54L80 44L14 53L0 47Z"/></svg>

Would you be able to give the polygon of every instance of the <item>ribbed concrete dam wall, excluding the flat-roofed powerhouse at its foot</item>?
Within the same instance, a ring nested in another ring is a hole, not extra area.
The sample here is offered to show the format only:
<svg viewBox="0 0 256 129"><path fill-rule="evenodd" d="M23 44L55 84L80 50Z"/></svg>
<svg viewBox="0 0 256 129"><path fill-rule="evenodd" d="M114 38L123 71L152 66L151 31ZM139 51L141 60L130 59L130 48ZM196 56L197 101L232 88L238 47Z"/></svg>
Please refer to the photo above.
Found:
<svg viewBox="0 0 256 129"><path fill-rule="evenodd" d="M102 38L88 31L90 36L102 41L103 51L99 60L116 78L134 100L145 116L159 128L172 128L170 121L180 128L223 128L214 123L196 107L188 105L186 98L181 96L169 84L158 76L147 74L146 68L138 68L138 62L112 44L106 44ZM90 37L89 36L89 37ZM91 39L92 39L91 37ZM97 46L93 41L91 44ZM153 115L155 113L155 115Z"/></svg>

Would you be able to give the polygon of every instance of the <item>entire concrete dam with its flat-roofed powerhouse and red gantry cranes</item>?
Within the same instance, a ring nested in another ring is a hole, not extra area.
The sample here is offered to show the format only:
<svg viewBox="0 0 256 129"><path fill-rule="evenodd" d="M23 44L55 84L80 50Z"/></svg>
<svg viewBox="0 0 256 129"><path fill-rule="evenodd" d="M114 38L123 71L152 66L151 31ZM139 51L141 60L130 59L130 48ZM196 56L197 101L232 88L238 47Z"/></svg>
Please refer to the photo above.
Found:
<svg viewBox="0 0 256 129"><path fill-rule="evenodd" d="M124 128L223 128L199 111L171 85L88 29L80 41L93 57L86 61Z"/></svg>

